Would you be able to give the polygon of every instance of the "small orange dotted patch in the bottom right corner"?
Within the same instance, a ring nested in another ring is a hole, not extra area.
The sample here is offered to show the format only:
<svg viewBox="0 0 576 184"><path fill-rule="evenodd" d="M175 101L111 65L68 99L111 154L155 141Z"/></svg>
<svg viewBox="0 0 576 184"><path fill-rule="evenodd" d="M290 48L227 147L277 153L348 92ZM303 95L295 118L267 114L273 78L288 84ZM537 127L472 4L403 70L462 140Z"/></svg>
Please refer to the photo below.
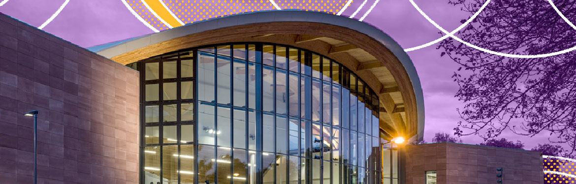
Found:
<svg viewBox="0 0 576 184"><path fill-rule="evenodd" d="M544 159L545 171L557 171L560 173L574 174L576 165L574 162L568 162L560 159ZM544 174L544 183L576 183L575 178L564 177L558 174Z"/></svg>

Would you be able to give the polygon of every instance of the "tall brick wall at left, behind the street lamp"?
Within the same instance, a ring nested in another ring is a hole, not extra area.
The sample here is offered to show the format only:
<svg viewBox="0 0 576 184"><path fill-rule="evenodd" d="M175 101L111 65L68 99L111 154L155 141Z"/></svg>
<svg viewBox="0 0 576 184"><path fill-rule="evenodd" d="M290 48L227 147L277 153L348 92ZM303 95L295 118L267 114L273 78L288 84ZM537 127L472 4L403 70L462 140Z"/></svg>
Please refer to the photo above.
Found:
<svg viewBox="0 0 576 184"><path fill-rule="evenodd" d="M0 183L138 182L138 72L0 14Z"/></svg>

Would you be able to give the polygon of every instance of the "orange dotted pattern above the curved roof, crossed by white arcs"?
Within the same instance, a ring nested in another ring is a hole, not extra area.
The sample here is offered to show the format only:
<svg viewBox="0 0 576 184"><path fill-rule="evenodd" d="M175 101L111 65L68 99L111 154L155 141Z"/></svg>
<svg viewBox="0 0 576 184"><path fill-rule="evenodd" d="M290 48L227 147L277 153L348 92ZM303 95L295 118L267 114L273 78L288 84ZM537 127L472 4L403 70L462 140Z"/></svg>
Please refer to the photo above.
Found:
<svg viewBox="0 0 576 184"><path fill-rule="evenodd" d="M336 14L347 0L275 0L281 9L299 9ZM146 22L158 30L166 30L160 19L142 1L126 0ZM166 7L184 24L252 11L275 10L268 0L162 0Z"/></svg>

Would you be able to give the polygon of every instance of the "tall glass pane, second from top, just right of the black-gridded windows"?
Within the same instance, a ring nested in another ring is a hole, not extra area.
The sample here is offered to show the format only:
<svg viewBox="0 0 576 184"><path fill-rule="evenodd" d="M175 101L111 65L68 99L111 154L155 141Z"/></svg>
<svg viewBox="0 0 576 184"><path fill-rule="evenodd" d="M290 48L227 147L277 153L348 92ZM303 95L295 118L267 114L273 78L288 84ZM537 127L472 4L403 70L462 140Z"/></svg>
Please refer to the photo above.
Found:
<svg viewBox="0 0 576 184"><path fill-rule="evenodd" d="M214 101L214 54L198 52L198 97L204 101Z"/></svg>

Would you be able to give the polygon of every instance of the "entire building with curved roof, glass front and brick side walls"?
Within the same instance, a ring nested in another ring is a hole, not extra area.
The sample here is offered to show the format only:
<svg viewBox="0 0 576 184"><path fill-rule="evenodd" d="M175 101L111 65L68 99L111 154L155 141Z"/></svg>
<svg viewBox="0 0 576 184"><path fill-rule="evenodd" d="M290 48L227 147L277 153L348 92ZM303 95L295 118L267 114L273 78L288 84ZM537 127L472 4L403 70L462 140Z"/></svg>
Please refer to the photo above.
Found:
<svg viewBox="0 0 576 184"><path fill-rule="evenodd" d="M2 183L33 181L31 110L43 183L543 182L539 152L410 145L416 69L355 19L259 11L87 49L0 27Z"/></svg>

